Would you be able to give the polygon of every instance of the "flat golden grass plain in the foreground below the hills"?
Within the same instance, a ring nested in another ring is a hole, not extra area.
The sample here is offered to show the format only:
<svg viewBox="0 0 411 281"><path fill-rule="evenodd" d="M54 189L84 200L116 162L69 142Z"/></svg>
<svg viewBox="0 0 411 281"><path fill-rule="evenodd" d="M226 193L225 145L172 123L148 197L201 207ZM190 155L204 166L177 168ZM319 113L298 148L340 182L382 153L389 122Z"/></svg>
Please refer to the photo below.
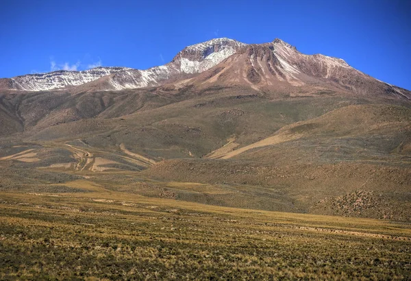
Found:
<svg viewBox="0 0 411 281"><path fill-rule="evenodd" d="M84 192L0 193L1 280L411 278L410 223L64 186Z"/></svg>

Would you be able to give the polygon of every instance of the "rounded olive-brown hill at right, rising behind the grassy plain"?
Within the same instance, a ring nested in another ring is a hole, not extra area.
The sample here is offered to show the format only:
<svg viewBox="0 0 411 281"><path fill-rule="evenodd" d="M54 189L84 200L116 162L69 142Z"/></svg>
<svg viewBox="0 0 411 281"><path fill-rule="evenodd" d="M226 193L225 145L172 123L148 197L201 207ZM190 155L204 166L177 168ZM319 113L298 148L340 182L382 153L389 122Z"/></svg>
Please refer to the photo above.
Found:
<svg viewBox="0 0 411 281"><path fill-rule="evenodd" d="M281 197L276 208L289 212L409 220L410 145L410 108L345 106L217 157L165 160L142 173L163 181L238 185L243 196L242 188L264 187L258 208L271 208L264 200ZM340 205L332 208L333 201Z"/></svg>

